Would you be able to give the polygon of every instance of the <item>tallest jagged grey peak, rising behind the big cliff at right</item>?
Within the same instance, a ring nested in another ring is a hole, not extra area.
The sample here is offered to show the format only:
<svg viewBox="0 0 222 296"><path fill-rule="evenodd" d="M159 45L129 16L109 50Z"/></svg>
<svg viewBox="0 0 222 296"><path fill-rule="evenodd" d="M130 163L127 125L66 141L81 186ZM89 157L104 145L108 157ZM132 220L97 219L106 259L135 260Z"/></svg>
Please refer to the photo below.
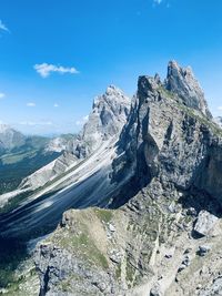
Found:
<svg viewBox="0 0 222 296"><path fill-rule="evenodd" d="M176 93L185 105L201 111L208 118L212 118L204 99L204 93L191 67L182 68L175 61L170 61L165 88Z"/></svg>

